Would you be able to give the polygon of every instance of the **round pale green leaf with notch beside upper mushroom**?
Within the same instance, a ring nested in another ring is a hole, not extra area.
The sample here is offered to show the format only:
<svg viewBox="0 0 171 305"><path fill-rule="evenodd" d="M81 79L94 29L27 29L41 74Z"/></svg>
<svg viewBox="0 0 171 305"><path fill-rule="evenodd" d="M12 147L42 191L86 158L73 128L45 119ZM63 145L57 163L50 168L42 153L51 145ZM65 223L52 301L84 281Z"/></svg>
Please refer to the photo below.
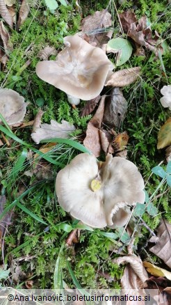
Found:
<svg viewBox="0 0 171 305"><path fill-rule="evenodd" d="M132 54L132 46L129 40L124 38L113 38L109 40L106 52L117 53L116 65L120 66L129 60Z"/></svg>

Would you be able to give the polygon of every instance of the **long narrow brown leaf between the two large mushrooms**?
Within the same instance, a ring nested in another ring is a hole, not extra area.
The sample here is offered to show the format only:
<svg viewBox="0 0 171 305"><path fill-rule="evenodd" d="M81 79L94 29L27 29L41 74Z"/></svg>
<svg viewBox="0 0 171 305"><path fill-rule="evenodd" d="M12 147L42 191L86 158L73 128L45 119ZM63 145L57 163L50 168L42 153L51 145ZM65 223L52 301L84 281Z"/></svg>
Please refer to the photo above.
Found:
<svg viewBox="0 0 171 305"><path fill-rule="evenodd" d="M101 141L99 128L101 128L101 123L104 116L104 102L106 95L101 97L99 107L95 113L95 116L92 117L88 123L88 128L86 130L86 138L83 141L83 145L88 148L95 157L99 157L101 153Z"/></svg>

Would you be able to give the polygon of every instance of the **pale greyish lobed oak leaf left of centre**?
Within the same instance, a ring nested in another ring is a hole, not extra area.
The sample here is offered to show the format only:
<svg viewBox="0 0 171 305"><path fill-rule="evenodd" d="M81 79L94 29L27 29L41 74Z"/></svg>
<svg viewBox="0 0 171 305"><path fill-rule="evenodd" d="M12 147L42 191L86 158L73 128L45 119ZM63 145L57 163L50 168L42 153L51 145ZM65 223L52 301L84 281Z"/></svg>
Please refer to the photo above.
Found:
<svg viewBox="0 0 171 305"><path fill-rule="evenodd" d="M31 137L33 141L38 144L42 140L68 138L74 130L74 125L70 125L66 120L62 120L61 124L57 123L55 120L51 120L51 124L44 123L41 124L40 127L35 127Z"/></svg>

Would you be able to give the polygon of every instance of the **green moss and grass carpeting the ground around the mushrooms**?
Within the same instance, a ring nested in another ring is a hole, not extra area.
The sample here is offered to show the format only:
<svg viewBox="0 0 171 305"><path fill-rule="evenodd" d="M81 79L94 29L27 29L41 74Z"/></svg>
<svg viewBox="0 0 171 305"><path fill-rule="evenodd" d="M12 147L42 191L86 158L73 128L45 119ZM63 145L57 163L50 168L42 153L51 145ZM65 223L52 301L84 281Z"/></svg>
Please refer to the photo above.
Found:
<svg viewBox="0 0 171 305"><path fill-rule="evenodd" d="M74 1L72 6L60 6L55 14L47 10L44 1L39 2L40 6L35 3L31 8L31 13L20 31L12 31L13 51L10 52L6 70L0 72L1 87L13 88L30 102L26 121L33 120L41 99L42 110L45 112L43 122L49 123L51 119L60 122L64 119L76 126L76 132L72 140L49 140L56 144L48 153L43 154L39 150L42 143L36 146L31 140L32 127L16 128L12 132L5 122L5 125L0 125L0 131L10 141L10 148L7 145L0 148L0 190L7 198L1 218L13 211L13 224L8 226L3 249L5 263L10 267L9 258L17 260L26 276L33 278L35 288L61 288L63 284L70 288L120 288L124 267L120 268L112 263L117 254L113 253L111 256L111 253L113 249L121 249L127 254L125 233L122 235L122 232L117 230L92 230L83 226L79 244L68 248L64 246L68 233L79 225L58 205L55 194L56 173L78 153L89 153L79 141L83 139L91 116L80 118L84 102L81 102L77 109L72 109L65 93L37 77L35 65L40 61L38 52L45 45L60 50L63 37L79 31L81 15L74 10ZM152 22L152 29L157 30L163 40L168 41L170 6L168 1L161 2L141 0L137 4L137 1L125 1L119 6L115 1L115 4L118 12L136 5L137 17L147 15ZM83 16L106 6L113 17L115 36L122 36L114 1L95 0L81 3ZM54 56L51 56L51 59L54 59ZM28 60L31 64L26 67ZM115 60L114 56L111 56L111 60ZM160 104L160 89L171 82L170 54L166 52L159 58L148 51L145 57L132 55L121 68L138 65L142 68L141 79L123 88L129 107L127 117L118 131L127 130L128 158L138 166L145 179L145 189L158 209L158 214L154 217L147 210L142 215L147 225L154 230L163 214L171 221L170 191L167 185L162 183L156 195L163 195L158 198L154 196L161 178L152 174L152 168L165 159L165 151L157 150L156 143L158 130L170 116L170 111L163 109ZM33 159L35 153L38 157ZM101 155L102 158L104 155ZM47 164L50 173L48 175L45 173ZM40 177L35 171L37 166L40 166ZM31 176L26 175L26 172L30 172ZM139 221L138 217L133 217L133 228L137 228ZM141 253L142 257L146 258L147 250L143 247L149 232L146 228L141 228L138 228L136 236L136 253ZM152 256L152 253L150 255ZM20 260L23 257L27 260ZM155 259L154 257L154 261ZM62 270L60 277L59 270ZM101 274L108 274L113 281L108 281ZM13 283L13 286L15 285L24 287L22 281Z"/></svg>

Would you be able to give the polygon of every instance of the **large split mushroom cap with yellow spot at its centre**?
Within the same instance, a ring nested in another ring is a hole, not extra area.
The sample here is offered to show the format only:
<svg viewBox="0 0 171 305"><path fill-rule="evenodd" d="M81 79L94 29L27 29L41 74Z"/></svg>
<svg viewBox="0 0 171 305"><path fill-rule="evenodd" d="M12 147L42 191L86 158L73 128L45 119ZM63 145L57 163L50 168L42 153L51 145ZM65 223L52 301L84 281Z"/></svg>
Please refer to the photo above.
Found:
<svg viewBox="0 0 171 305"><path fill-rule="evenodd" d="M56 177L58 203L94 228L124 226L128 205L145 202L144 181L135 164L108 154L106 162L82 153Z"/></svg>

